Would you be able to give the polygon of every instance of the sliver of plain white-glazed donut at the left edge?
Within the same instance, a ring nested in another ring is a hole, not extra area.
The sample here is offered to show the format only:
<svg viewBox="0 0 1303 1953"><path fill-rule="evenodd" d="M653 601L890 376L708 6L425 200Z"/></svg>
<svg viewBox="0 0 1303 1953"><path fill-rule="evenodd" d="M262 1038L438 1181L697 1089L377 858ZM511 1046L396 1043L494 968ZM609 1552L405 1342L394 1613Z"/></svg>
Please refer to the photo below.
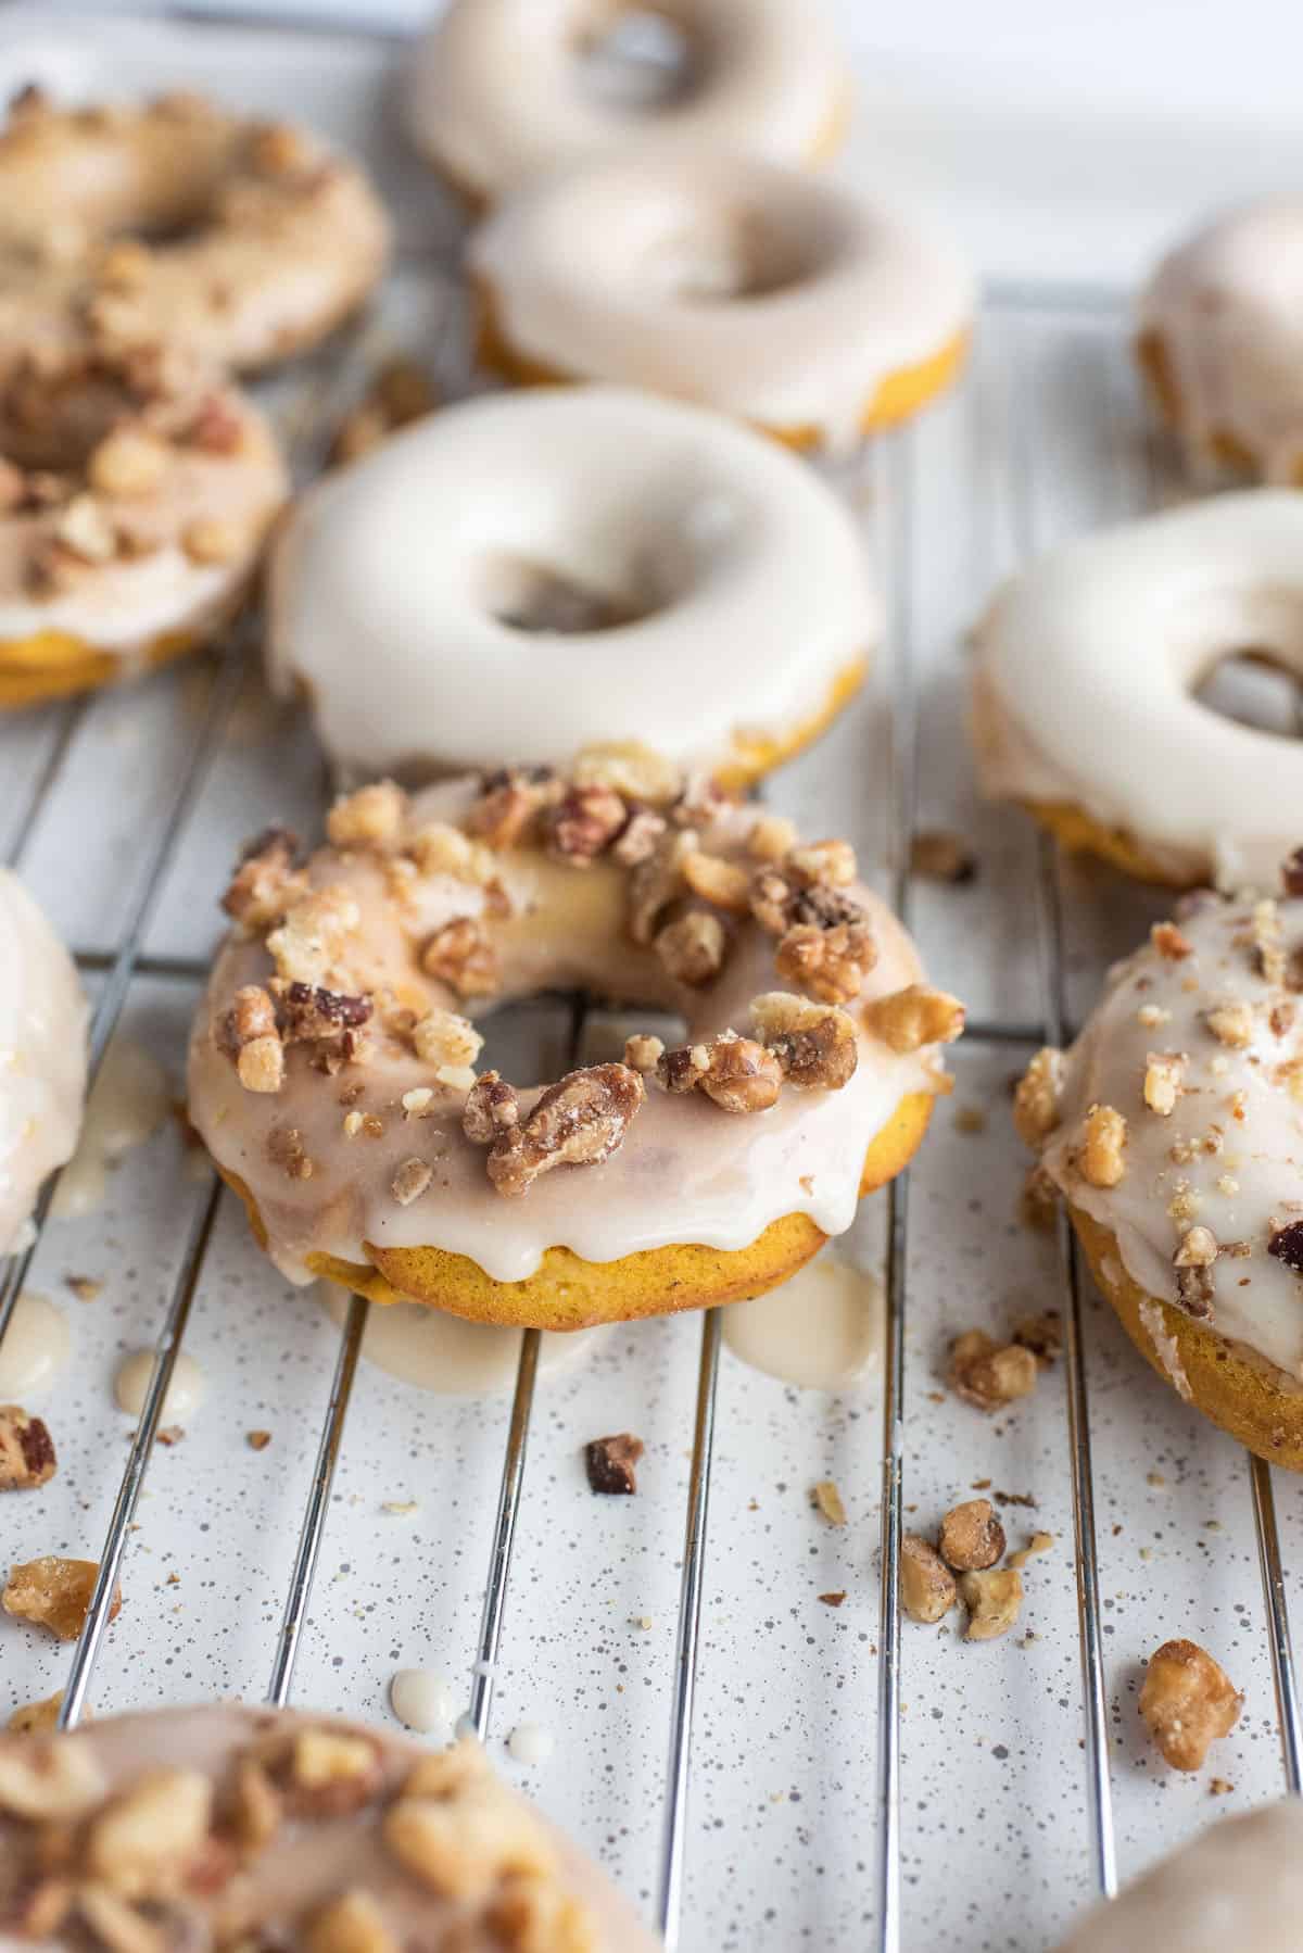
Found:
<svg viewBox="0 0 1303 1953"><path fill-rule="evenodd" d="M86 998L72 957L0 867L0 1258L41 1182L72 1158L86 1098Z"/></svg>

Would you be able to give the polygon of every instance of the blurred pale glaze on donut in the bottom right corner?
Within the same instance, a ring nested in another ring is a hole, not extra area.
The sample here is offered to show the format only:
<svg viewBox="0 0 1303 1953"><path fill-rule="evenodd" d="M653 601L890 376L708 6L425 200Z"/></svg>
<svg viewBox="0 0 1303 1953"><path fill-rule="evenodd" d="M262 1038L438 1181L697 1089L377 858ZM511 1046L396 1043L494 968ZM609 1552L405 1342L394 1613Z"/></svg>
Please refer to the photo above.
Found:
<svg viewBox="0 0 1303 1953"><path fill-rule="evenodd" d="M1301 1914L1303 1805L1291 1797L1199 1832L1096 1906L1059 1953L1295 1953Z"/></svg>

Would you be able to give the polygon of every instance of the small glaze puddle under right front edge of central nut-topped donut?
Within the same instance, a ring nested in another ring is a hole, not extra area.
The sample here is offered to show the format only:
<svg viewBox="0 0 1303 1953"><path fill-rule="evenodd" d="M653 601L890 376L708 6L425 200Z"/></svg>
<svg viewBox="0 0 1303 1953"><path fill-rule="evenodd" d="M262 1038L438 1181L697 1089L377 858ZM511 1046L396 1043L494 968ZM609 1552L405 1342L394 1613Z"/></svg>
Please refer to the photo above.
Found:
<svg viewBox="0 0 1303 1953"><path fill-rule="evenodd" d="M766 1377L848 1391L877 1369L883 1287L826 1248L791 1281L725 1310L725 1344Z"/></svg>

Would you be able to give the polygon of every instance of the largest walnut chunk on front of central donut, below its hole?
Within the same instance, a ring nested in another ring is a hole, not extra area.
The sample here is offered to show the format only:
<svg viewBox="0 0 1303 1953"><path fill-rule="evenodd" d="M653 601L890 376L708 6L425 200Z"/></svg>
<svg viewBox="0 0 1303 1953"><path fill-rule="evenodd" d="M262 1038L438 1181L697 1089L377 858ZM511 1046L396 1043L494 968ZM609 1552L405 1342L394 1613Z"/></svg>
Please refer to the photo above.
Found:
<svg viewBox="0 0 1303 1953"><path fill-rule="evenodd" d="M598 1166L623 1144L645 1086L627 1064L588 1064L549 1086L525 1119L500 1094L502 1080L484 1072L467 1098L463 1129L484 1144L490 1131L488 1178L508 1197L525 1193L553 1166ZM483 1088L483 1090L481 1090Z"/></svg>

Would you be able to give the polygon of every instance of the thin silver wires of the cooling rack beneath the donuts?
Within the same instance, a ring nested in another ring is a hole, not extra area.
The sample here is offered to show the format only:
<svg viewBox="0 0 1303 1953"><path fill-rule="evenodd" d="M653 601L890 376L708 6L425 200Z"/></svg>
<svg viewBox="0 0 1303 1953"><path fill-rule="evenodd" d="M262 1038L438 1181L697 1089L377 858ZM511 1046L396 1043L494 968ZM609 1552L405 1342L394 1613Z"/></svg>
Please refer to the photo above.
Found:
<svg viewBox="0 0 1303 1953"><path fill-rule="evenodd" d="M1092 289L1049 289L1037 285L992 287L985 295L987 320L1016 328L1033 314L1061 314L1069 320L1096 320L1106 328L1119 322L1117 299ZM1016 344L1010 338L1008 344ZM311 475L324 455L328 430L334 424L350 381L359 371L365 338L354 334L326 357L311 363L299 410L291 428L291 449L299 477ZM1014 519L1014 549L1026 557L1037 547L1031 482L1031 449L1026 408L1018 389L1008 389L1008 475ZM910 553L910 521L914 512L916 430L904 426L875 441L856 463L860 500L883 512L873 535L881 578L887 590L891 658L891 822L889 822L889 887L897 912L908 922L912 906L910 840L918 809L918 695L912 658L910 578L904 564ZM189 957L156 957L145 953L148 928L160 902L168 871L176 859L180 838L191 818L203 814L203 793L223 734L231 723L244 658L256 650L256 619L232 633L231 643L213 660L213 680L203 711L193 727L189 746L176 771L164 816L145 840L131 887L123 893L123 926L111 949L82 947L76 961L98 980L90 1031L90 1070L98 1072L109 1039L127 1004L135 978L176 978L197 982L203 965ZM18 812L8 850L12 867L23 865L27 842L66 779L66 760L86 717L96 711L94 699L76 699L59 709L45 762L31 781ZM1014 818L1014 816L1010 816ZM987 1045L1063 1043L1071 1035L1065 984L1065 906L1063 879L1055 846L1041 838L1035 869L1035 941L1039 959L1039 1012L1033 1021L969 1021L967 1041ZM582 1033L582 1002L574 1002L570 1018L570 1049L578 1049ZM41 1230L49 1219L53 1185L47 1185L35 1213L35 1238L16 1254L0 1273L0 1340L4 1338L18 1295L37 1252ZM225 1189L209 1170L207 1189L189 1225L176 1279L154 1344L154 1363L145 1406L127 1453L121 1486L100 1549L100 1574L90 1600L86 1625L72 1654L64 1683L63 1723L74 1726L86 1709L86 1695L104 1633L109 1601L129 1549L133 1516L150 1467L162 1404L182 1351L186 1328L201 1301L205 1256ZM910 1248L908 1174L887 1189L887 1256L885 1256L885 1357L881 1402L881 1619L877 1660L877 1795L871 1805L875 1849L871 1851L875 1906L865 1945L881 1953L903 1947L901 1861L904 1842L904 1812L901 1797L901 1539L904 1512L904 1375L906 1375L906 1267ZM1090 1818L1088 1851L1090 1877L1100 1892L1117 1887L1114 1842L1114 1807L1108 1760L1108 1697L1100 1621L1100 1562L1096 1553L1096 1502L1092 1471L1092 1434L1086 1363L1082 1351L1082 1277L1067 1219L1057 1225L1057 1269L1065 1320L1067 1373L1067 1449L1076 1570L1076 1617L1080 1639L1080 1709L1082 1766L1086 1777L1086 1808ZM313 1600L313 1580L328 1525L330 1490L346 1439L348 1406L357 1371L369 1303L350 1301L340 1334L334 1377L324 1404L316 1463L293 1562L287 1580L279 1635L272 1652L268 1701L283 1705L291 1697L295 1658ZM694 1695L697 1658L703 1642L701 1598L703 1568L711 1551L709 1496L715 1445L715 1400L721 1351L721 1312L701 1316L701 1350L692 1424L692 1465L688 1506L684 1516L684 1551L674 1644L674 1685L670 1693L668 1769L664 1789L664 1832L660 1853L660 1891L656 1924L670 1953L680 1945L684 1908L684 1871L692 1844L692 1766L694 1766ZM516 1371L510 1406L502 1478L488 1539L486 1588L479 1629L477 1662L471 1682L469 1719L481 1738L488 1734L492 1717L494 1674L502 1625L510 1600L512 1549L516 1539L522 1488L527 1473L529 1424L539 1377L539 1334L525 1332ZM1289 1607L1282 1549L1276 1521L1272 1471L1244 1455L1256 1523L1258 1560L1266 1605L1266 1629L1276 1689L1276 1721L1280 1728L1285 1787L1303 1787L1303 1730L1299 1724L1297 1674L1289 1635ZM873 1705L858 1703L865 1721ZM865 1855L867 1855L865 1838Z"/></svg>

